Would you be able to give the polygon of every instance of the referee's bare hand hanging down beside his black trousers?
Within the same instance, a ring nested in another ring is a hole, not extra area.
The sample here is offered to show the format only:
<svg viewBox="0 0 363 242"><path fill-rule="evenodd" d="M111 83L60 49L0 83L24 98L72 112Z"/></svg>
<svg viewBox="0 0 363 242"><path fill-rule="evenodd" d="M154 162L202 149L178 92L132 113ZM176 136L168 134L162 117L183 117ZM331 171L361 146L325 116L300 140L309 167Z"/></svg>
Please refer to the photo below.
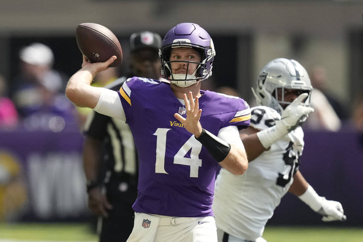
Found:
<svg viewBox="0 0 363 242"><path fill-rule="evenodd" d="M88 193L88 207L91 211L102 217L109 217L109 213L107 210L112 209L112 205L107 200L105 194L101 192L100 188L91 189Z"/></svg>

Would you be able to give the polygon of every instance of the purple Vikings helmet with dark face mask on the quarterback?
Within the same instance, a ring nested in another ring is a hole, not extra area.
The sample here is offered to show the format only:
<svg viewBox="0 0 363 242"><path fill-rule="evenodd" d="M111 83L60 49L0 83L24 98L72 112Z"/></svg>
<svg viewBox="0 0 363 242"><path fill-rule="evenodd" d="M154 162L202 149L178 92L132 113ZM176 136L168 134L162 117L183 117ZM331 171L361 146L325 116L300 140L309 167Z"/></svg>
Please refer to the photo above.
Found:
<svg viewBox="0 0 363 242"><path fill-rule="evenodd" d="M187 87L212 75L212 65L216 51L211 36L199 25L193 23L176 25L165 35L161 45L159 56L162 62L162 77L170 80L171 83L180 87ZM172 48L178 47L193 48L201 54L200 62L183 61L187 62L187 68L189 63L198 64L193 74L171 73L171 62L180 61L170 61L170 53Z"/></svg>

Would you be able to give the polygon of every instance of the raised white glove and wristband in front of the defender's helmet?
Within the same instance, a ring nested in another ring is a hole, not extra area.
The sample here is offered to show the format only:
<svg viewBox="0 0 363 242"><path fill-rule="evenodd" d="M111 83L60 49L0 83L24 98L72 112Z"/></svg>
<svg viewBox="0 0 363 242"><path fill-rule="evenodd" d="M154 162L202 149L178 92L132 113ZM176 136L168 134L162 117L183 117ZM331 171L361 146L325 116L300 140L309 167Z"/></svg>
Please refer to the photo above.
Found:
<svg viewBox="0 0 363 242"><path fill-rule="evenodd" d="M307 93L299 95L299 97L282 112L281 120L276 120L274 126L257 132L258 139L266 149L270 148L272 144L289 134L291 130L294 130L306 120L307 114L314 111L314 108L300 105L307 96Z"/></svg>

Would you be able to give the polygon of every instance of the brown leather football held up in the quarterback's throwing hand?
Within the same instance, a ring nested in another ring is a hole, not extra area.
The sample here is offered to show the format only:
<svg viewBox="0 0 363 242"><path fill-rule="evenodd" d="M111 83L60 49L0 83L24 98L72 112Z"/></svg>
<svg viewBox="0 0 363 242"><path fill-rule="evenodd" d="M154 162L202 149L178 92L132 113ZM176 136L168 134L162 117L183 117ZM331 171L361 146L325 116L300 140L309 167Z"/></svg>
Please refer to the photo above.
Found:
<svg viewBox="0 0 363 242"><path fill-rule="evenodd" d="M79 24L76 29L76 39L79 50L91 62L105 62L111 56L117 59L109 67L122 63L120 42L111 30L94 23Z"/></svg>

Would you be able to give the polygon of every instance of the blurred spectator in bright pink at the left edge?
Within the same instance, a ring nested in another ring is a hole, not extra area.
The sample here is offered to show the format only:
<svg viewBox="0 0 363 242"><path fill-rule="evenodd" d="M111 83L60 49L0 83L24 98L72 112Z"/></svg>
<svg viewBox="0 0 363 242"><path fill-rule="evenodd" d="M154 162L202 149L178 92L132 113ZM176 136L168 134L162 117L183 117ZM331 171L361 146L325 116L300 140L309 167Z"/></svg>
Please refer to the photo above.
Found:
<svg viewBox="0 0 363 242"><path fill-rule="evenodd" d="M0 128L13 128L18 123L18 113L13 101L6 96L6 84L0 75Z"/></svg>

